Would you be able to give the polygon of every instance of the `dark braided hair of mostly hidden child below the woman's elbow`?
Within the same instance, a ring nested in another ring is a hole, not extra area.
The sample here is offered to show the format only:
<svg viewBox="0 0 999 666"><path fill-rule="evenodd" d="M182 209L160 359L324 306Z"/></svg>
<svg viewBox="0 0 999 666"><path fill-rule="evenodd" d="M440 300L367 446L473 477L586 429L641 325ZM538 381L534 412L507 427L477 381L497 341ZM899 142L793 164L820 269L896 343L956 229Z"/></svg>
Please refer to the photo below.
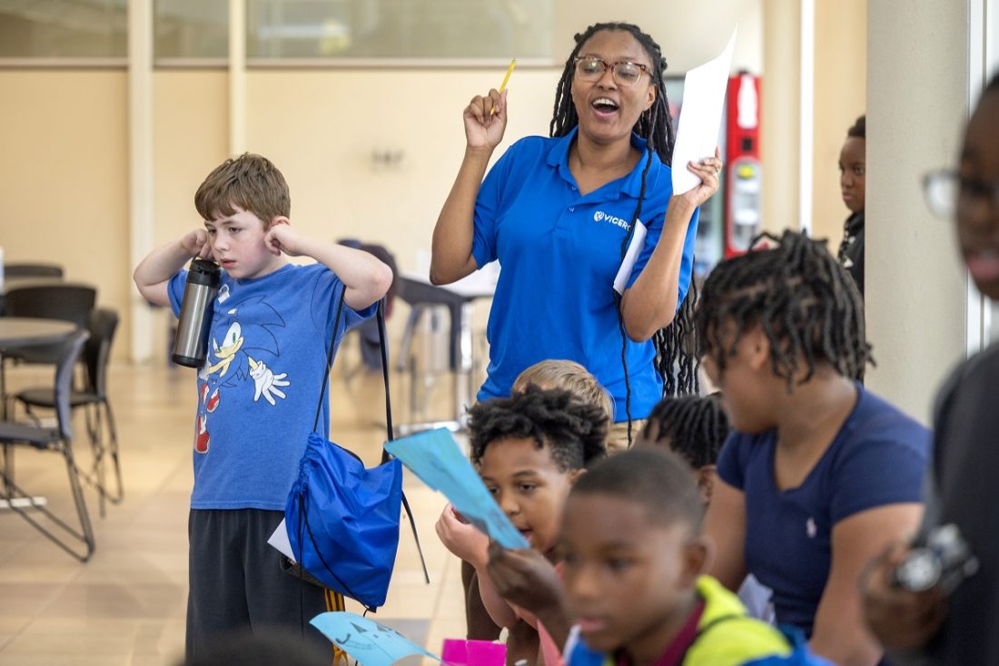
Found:
<svg viewBox="0 0 999 666"><path fill-rule="evenodd" d="M718 393L681 395L659 400L648 414L641 438L649 444L668 439L670 450L700 469L717 461L728 429Z"/></svg>

